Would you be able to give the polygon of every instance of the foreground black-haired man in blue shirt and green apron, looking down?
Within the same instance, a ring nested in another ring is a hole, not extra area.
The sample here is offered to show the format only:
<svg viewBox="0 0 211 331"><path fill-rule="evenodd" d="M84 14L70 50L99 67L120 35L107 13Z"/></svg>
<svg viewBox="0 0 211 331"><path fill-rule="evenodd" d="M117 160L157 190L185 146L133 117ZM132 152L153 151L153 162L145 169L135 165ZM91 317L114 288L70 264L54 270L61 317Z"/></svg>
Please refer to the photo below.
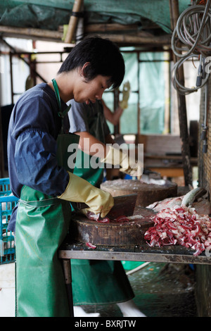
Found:
<svg viewBox="0 0 211 331"><path fill-rule="evenodd" d="M70 225L70 201L85 202L90 211L104 217L113 197L71 173L74 165L60 158L57 146L64 146L66 153L72 141L77 142L68 134L66 102L101 99L104 90L118 87L123 77L124 60L117 46L108 39L87 38L72 49L55 80L28 89L13 108L8 170L12 192L20 202L9 229L16 237L20 317L70 316L58 260Z"/></svg>

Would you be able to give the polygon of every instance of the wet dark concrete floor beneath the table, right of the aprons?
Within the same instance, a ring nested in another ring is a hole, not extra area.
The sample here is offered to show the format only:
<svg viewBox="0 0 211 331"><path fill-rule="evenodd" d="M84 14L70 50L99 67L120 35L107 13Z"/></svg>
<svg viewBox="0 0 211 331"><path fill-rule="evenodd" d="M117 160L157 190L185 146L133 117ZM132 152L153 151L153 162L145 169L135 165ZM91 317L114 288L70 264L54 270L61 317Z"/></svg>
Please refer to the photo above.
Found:
<svg viewBox="0 0 211 331"><path fill-rule="evenodd" d="M192 265L149 263L128 277L135 294L134 302L146 316L197 317ZM83 308L87 313L101 313L101 317L122 317L116 304Z"/></svg>

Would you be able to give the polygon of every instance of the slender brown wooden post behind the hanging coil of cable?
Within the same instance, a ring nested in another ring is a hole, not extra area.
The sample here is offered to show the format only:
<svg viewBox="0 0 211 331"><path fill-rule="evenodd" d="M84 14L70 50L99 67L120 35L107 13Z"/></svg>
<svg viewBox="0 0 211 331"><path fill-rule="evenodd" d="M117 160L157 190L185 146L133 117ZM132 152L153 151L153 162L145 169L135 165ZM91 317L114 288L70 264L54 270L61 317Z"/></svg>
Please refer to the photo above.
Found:
<svg viewBox="0 0 211 331"><path fill-rule="evenodd" d="M170 18L171 18L171 26L172 31L174 27L176 27L177 19L179 18L179 1L178 0L170 0ZM177 56L173 54L174 63L177 62ZM180 66L178 70L179 82L184 86L184 70L183 65ZM179 130L180 130L180 138L181 138L181 156L184 167L184 181L185 185L193 185L192 179L192 168L191 168L191 153L189 146L189 135L188 135L188 123L187 123L187 115L186 115L186 96L179 94L177 92L177 100L178 100L178 111L179 111Z"/></svg>

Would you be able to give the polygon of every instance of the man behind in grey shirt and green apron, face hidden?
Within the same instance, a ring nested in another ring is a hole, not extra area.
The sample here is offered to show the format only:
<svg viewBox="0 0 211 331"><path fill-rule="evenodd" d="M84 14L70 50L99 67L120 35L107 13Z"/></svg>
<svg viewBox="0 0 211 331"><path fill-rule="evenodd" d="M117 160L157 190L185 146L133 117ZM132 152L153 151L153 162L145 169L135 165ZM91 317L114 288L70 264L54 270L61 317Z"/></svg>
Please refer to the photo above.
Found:
<svg viewBox="0 0 211 331"><path fill-rule="evenodd" d="M124 100L125 102L125 100ZM115 144L110 136L110 130L103 115L103 104L96 100L94 104L79 104L75 100L70 101L71 108L68 112L70 120L70 132L79 135L79 146L74 173L92 185L100 187L103 182L103 170L91 166L91 146L100 144L106 149L106 143ZM126 107L125 107L126 108ZM102 150L103 151L103 150ZM109 153L109 152L108 152ZM101 155L103 156L103 155ZM106 158L102 158L103 161ZM128 160L129 161L129 160ZM132 161L132 160L130 160ZM98 163L98 160L96 160ZM129 163L129 162L128 162ZM141 175L142 164L137 164L134 171ZM129 166L124 169L130 173ZM80 305L83 304L114 304L116 303L124 317L144 316L134 304L134 292L129 284L120 261L92 261L71 260L72 270L72 294L75 316L86 316ZM95 316L91 314L89 316Z"/></svg>

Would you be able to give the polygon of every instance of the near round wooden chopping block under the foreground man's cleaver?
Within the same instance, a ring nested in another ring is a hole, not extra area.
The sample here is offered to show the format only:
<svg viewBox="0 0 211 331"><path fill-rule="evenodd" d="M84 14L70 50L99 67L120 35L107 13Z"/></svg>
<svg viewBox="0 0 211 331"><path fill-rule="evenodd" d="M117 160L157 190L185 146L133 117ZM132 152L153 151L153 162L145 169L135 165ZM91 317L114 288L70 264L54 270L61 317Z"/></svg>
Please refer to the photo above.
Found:
<svg viewBox="0 0 211 331"><path fill-rule="evenodd" d="M77 215L71 220L71 239L77 242L91 242L94 245L129 246L146 244L144 234L153 226L151 216L155 211L136 207L129 222L100 223Z"/></svg>

